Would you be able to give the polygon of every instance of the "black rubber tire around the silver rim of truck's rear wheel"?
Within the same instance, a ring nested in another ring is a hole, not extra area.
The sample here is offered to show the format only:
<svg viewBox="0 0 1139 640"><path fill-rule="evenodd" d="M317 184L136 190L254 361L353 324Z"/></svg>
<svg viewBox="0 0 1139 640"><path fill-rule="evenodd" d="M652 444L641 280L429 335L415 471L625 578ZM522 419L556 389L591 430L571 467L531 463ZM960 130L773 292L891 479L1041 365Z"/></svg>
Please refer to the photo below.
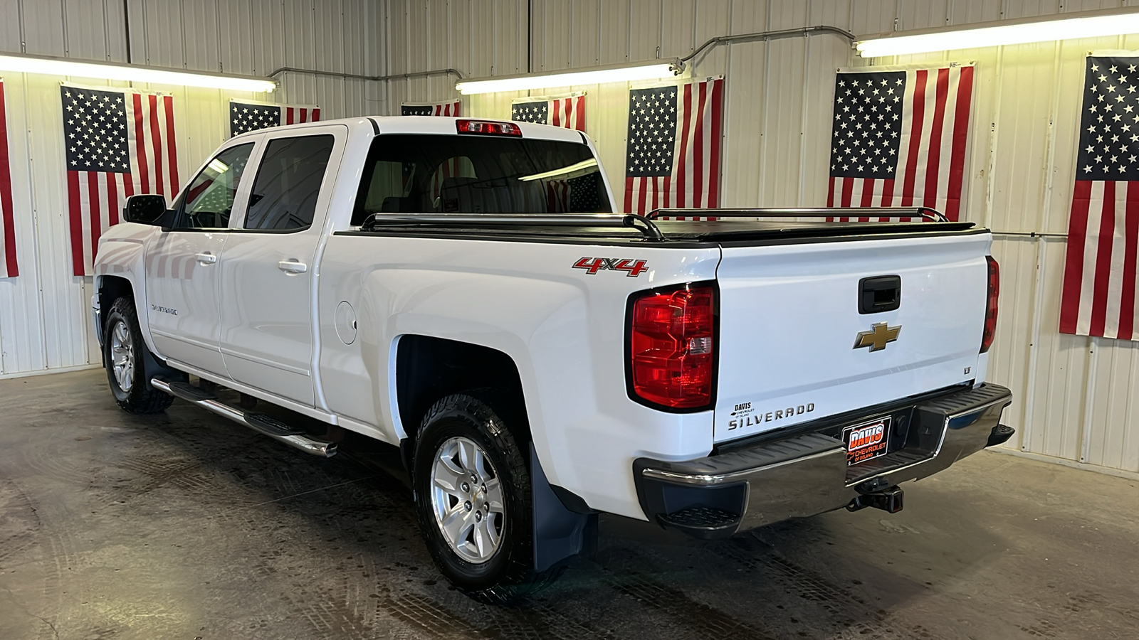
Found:
<svg viewBox="0 0 1139 640"><path fill-rule="evenodd" d="M495 411L492 402L502 411ZM416 438L412 487L427 548L452 584L486 604L506 604L533 593L562 573L560 567L542 573L534 571L528 457L502 419L510 415L508 409L507 403L491 394L449 395L427 411ZM453 438L467 438L477 444L502 487L506 522L501 542L493 556L481 563L460 557L444 538L435 515L432 468L441 456L441 448Z"/></svg>

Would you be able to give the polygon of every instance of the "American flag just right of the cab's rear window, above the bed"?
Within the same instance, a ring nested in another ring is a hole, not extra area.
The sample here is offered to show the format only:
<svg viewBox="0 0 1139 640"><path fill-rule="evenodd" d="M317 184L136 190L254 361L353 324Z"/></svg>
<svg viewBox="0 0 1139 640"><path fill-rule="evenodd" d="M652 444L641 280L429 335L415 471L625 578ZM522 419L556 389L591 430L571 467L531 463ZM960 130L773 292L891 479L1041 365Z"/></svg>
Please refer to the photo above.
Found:
<svg viewBox="0 0 1139 640"><path fill-rule="evenodd" d="M723 77L629 91L625 206L715 208Z"/></svg>

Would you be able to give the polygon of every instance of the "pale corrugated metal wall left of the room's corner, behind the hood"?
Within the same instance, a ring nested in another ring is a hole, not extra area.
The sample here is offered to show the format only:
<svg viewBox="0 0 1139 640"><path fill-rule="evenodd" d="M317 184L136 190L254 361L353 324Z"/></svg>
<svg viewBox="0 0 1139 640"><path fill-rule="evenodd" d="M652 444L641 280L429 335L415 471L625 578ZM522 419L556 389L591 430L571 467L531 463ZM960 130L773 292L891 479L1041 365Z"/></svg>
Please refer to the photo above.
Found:
<svg viewBox="0 0 1139 640"><path fill-rule="evenodd" d="M126 15L137 64L249 75L382 68L383 11L368 0L0 0L0 51L126 61ZM126 84L3 80L21 274L0 279L0 376L98 363L91 279L71 274L59 82ZM230 98L318 104L325 120L378 110L378 83L280 80L274 96L145 85L174 95L179 174L189 177L224 140Z"/></svg>

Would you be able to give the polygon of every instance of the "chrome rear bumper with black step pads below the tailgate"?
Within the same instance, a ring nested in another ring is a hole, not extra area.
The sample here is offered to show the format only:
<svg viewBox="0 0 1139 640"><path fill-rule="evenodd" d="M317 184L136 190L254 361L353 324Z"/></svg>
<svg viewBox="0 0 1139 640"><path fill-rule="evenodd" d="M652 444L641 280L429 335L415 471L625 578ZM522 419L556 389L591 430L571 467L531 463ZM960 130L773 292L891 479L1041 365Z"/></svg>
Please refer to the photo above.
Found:
<svg viewBox="0 0 1139 640"><path fill-rule="evenodd" d="M899 483L924 478L1013 430L1000 425L1013 394L999 385L949 393L915 404L829 419L817 430L683 462L633 461L645 515L697 538L723 538L788 518L851 504ZM837 426L882 416L904 421L901 446L849 467Z"/></svg>

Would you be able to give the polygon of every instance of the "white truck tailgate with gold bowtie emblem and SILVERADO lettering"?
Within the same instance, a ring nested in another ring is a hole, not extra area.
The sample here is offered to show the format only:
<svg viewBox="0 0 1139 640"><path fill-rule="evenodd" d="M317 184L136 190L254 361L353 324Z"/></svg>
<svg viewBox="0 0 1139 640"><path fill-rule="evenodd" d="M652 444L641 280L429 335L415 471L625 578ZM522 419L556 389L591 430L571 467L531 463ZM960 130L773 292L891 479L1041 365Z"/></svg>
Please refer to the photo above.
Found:
<svg viewBox="0 0 1139 640"><path fill-rule="evenodd" d="M715 442L975 379L991 240L726 244ZM900 278L898 309L861 313L861 281L890 276Z"/></svg>

